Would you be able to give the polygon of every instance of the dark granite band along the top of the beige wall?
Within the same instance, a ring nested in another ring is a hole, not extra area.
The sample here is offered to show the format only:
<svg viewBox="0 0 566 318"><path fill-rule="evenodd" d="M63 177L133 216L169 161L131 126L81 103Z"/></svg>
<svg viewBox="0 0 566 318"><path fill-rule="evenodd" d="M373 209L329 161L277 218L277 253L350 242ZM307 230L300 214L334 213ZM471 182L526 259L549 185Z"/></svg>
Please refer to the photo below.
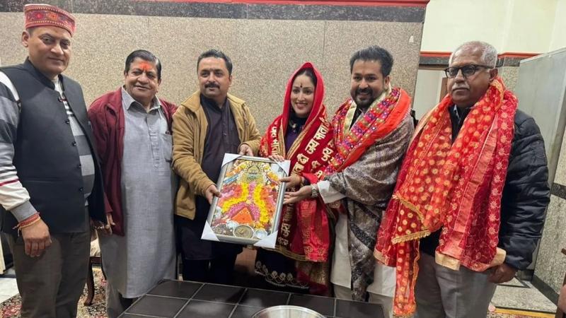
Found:
<svg viewBox="0 0 566 318"><path fill-rule="evenodd" d="M0 12L21 12L33 0L4 0ZM72 13L232 18L261 20L356 20L423 22L424 8L412 6L323 6L277 4L230 4L132 0L46 0Z"/></svg>

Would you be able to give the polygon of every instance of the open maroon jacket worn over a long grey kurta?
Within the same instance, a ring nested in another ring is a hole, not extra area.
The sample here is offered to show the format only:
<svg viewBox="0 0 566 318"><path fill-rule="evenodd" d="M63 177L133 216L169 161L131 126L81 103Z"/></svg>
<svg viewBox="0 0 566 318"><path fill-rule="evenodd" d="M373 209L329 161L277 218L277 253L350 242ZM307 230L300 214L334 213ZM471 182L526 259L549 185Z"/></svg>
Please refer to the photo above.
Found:
<svg viewBox="0 0 566 318"><path fill-rule="evenodd" d="M159 99L171 131L173 113L177 107L171 102ZM96 151L100 157L104 181L104 204L106 213L112 214L116 225L112 232L124 235L124 215L122 213L122 153L124 153L124 109L122 108L122 88L107 93L88 107Z"/></svg>

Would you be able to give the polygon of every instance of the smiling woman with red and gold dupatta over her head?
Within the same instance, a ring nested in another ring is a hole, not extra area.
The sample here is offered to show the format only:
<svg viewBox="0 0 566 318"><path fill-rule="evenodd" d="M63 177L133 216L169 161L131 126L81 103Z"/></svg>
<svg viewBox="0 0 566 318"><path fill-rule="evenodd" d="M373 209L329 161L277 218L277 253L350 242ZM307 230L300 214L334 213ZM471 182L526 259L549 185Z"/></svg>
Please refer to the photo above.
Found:
<svg viewBox="0 0 566 318"><path fill-rule="evenodd" d="M334 153L333 129L323 105L324 83L307 62L297 69L285 92L283 112L267 127L260 155L291 160L288 191L316 183L324 161ZM330 229L334 224L320 199L305 199L283 207L275 249L259 249L255 272L284 290L329 293Z"/></svg>

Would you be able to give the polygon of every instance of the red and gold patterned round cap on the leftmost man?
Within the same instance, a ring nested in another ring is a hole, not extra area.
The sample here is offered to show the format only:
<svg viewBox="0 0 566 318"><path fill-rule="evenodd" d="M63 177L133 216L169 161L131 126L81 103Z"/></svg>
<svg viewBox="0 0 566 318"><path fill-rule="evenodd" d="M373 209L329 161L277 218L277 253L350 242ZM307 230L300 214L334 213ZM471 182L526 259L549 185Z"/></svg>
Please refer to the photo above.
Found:
<svg viewBox="0 0 566 318"><path fill-rule="evenodd" d="M25 28L36 28L40 26L56 26L63 28L71 36L75 32L75 17L57 6L50 4L26 4L23 6L25 13Z"/></svg>

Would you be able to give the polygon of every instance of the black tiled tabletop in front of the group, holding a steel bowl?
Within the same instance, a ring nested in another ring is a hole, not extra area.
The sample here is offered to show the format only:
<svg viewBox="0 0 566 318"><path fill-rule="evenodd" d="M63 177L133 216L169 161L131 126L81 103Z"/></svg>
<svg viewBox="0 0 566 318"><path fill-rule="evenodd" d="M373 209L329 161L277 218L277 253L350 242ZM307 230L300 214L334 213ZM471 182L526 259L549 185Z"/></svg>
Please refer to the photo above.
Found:
<svg viewBox="0 0 566 318"><path fill-rule="evenodd" d="M249 318L267 307L299 304L326 317L383 318L381 305L368 302L179 281L161 283L137 300L128 308L127 314L121 317L138 314L157 317Z"/></svg>

